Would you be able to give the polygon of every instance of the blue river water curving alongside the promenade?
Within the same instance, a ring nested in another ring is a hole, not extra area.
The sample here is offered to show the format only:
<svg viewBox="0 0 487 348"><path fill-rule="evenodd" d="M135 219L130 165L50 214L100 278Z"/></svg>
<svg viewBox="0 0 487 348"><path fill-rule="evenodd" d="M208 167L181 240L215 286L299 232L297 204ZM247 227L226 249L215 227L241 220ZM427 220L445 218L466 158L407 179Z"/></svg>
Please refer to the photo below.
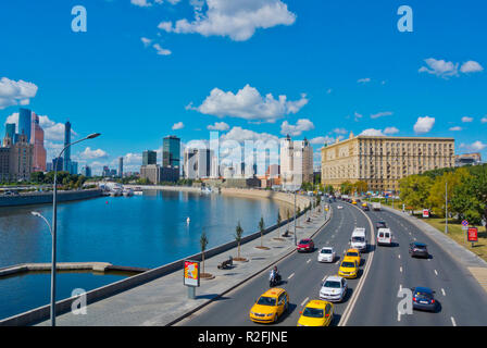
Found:
<svg viewBox="0 0 487 348"><path fill-rule="evenodd" d="M58 262L100 261L116 265L155 268L200 251L201 232L208 249L234 240L237 222L244 235L283 219L287 204L216 194L145 191L143 196L101 197L58 206ZM50 262L51 236L38 211L51 222L52 206L0 208L0 268ZM187 217L190 222L187 224ZM61 273L58 295L75 288L90 290L123 275ZM0 279L0 319L49 303L50 274Z"/></svg>

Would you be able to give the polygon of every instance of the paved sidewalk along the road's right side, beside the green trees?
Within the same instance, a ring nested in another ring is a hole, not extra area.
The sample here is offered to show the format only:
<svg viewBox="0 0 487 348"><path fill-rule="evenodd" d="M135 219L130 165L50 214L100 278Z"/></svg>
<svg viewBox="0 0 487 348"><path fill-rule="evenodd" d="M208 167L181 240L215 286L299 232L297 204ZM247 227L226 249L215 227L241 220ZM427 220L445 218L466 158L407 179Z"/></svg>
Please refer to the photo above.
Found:
<svg viewBox="0 0 487 348"><path fill-rule="evenodd" d="M422 229L428 237L430 237L441 249L449 253L453 259L461 263L465 268L487 268L487 262L482 258L461 246L453 239L445 236L441 232L433 227L432 225L413 217L409 214L402 213L389 207L383 207L384 210L392 212L399 216L404 217L417 228Z"/></svg>

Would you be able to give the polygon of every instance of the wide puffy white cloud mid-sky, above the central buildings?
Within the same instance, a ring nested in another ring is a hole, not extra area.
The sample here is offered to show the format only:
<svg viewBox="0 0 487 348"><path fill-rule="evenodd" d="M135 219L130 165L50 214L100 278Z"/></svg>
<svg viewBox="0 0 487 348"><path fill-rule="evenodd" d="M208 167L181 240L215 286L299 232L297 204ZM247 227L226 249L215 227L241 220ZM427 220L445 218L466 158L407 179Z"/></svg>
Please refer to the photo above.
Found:
<svg viewBox="0 0 487 348"><path fill-rule="evenodd" d="M286 114L297 113L307 103L305 95L301 95L301 99L297 101L288 101L286 96L274 99L273 95L262 97L254 87L246 85L237 94L213 88L201 105L193 108L189 104L186 109L218 117L230 116L274 123Z"/></svg>

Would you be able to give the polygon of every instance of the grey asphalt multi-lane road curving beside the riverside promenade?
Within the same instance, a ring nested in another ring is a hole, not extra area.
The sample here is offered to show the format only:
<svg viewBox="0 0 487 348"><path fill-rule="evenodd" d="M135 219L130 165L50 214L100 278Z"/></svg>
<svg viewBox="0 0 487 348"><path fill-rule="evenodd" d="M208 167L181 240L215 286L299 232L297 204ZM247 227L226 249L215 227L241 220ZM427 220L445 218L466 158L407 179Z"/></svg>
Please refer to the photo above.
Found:
<svg viewBox="0 0 487 348"><path fill-rule="evenodd" d="M344 209L337 209L340 204ZM485 325L487 297L484 289L458 265L451 256L429 240L407 220L392 213L363 212L360 208L337 202L332 204L330 222L313 238L316 249L312 253L292 253L277 266L283 284L290 296L289 311L276 325L295 326L299 311L310 299L319 298L321 282L336 274L353 227L365 227L369 252L357 279L349 279L345 300L335 303L332 325ZM394 247L375 246L375 222L383 220L394 232ZM299 238L299 228L298 228ZM411 259L409 244L424 241L433 258ZM335 263L316 261L321 247L332 246L339 257ZM436 290L440 302L437 313L417 312L399 315L400 287L427 286ZM269 274L264 272L223 298L196 312L178 325L247 326L254 324L249 310L255 299L269 289Z"/></svg>

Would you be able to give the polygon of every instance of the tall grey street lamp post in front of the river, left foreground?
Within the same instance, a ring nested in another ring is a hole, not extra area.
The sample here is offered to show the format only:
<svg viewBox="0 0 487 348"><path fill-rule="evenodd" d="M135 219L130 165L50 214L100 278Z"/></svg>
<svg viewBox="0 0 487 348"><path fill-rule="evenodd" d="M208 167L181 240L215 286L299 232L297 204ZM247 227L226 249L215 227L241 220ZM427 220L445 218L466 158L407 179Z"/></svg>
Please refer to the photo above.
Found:
<svg viewBox="0 0 487 348"><path fill-rule="evenodd" d="M58 232L58 201L57 201L57 196L58 196L58 163L59 163L59 159L61 158L61 156L63 154L63 152L71 147L72 145L82 142L84 140L87 139L95 139L96 137L100 136L100 133L93 133L90 134L89 136L76 140L74 142L71 142L68 145L66 145L61 152L59 153L59 156L55 158L55 165L54 165L54 189L52 192L52 229L51 229L51 235L52 235L52 257L51 257L51 326L55 326L55 239L57 239L57 232ZM34 214L34 213L33 213ZM42 217L46 223L47 220L40 215L39 213L34 214L35 216L39 216ZM49 223L48 223L49 225Z"/></svg>

